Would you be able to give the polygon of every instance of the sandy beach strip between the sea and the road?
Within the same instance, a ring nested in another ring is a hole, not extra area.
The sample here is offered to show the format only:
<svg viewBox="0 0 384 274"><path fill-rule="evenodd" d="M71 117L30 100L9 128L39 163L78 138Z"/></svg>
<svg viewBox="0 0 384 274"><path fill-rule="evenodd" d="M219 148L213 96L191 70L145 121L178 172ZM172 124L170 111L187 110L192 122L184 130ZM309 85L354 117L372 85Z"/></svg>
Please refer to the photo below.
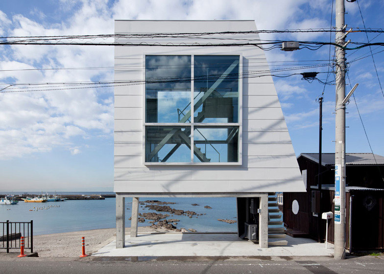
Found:
<svg viewBox="0 0 384 274"><path fill-rule="evenodd" d="M130 228L125 232L129 233ZM138 233L165 232L165 229L139 227ZM81 237L85 237L87 254L96 252L109 244L116 237L116 228L73 231L33 237L34 251L39 257L78 257L81 254Z"/></svg>

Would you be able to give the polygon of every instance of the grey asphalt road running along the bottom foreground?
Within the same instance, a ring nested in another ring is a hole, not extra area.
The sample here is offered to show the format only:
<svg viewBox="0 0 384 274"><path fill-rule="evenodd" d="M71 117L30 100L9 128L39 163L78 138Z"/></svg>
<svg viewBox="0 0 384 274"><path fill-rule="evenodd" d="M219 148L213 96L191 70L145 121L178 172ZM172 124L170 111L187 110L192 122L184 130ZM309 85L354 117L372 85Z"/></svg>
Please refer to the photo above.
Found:
<svg viewBox="0 0 384 274"><path fill-rule="evenodd" d="M384 258L364 256L347 260L323 261L143 261L132 262L121 258L67 260L57 258L0 258L1 274L378 274L384 273Z"/></svg>

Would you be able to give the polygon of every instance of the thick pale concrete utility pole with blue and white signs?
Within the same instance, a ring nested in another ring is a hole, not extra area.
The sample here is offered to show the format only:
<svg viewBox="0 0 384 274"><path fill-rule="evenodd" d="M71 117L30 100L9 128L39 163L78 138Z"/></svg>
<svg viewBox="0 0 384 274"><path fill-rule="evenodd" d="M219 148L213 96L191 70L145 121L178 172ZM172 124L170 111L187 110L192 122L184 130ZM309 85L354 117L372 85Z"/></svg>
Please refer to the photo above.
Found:
<svg viewBox="0 0 384 274"><path fill-rule="evenodd" d="M336 0L336 44L345 46L344 0ZM345 51L336 46L335 259L345 259Z"/></svg>

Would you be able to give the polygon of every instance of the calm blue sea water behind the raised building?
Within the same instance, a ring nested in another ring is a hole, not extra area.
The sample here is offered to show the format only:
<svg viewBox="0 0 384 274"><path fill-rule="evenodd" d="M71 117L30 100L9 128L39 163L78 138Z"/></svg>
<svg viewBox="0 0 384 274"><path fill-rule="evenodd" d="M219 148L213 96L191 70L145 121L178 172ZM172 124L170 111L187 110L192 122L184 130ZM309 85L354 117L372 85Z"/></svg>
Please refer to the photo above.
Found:
<svg viewBox="0 0 384 274"><path fill-rule="evenodd" d="M73 194L59 193L58 194ZM81 193L92 194L92 193ZM179 219L177 228L194 228L197 231L237 231L237 224L227 224L217 221L217 219L236 220L236 198L141 198L145 200L159 200L163 202L175 202L169 205L175 209L191 210L197 214L206 215L194 216L169 216L168 219ZM116 204L115 198L106 198L105 200L68 200L64 202L47 203L25 203L20 201L17 205L0 205L0 222L6 220L13 222L26 222L33 220L34 235L70 232L78 230L89 230L98 228L116 227ZM199 206L192 206L198 204ZM29 211L34 207L50 207L49 209L40 209L38 211ZM139 205L139 212L155 212L148 210L143 205ZM211 206L212 209L204 208ZM129 208L129 209L127 209ZM10 210L7 210L10 209ZM130 226L132 209L132 200L125 199L125 225ZM166 213L166 212L157 212ZM150 226L151 220L145 223L139 223L139 226ZM2 228L0 227L0 230ZM2 231L0 231L1 233Z"/></svg>

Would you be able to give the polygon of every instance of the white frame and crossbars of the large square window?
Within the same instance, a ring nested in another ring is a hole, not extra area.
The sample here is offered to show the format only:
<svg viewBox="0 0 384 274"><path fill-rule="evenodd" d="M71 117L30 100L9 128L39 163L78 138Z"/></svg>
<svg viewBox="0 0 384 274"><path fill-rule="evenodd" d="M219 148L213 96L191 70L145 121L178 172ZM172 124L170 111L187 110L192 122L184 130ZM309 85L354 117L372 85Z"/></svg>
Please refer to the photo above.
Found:
<svg viewBox="0 0 384 274"><path fill-rule="evenodd" d="M169 55L169 56L191 56L191 123L146 123L146 98L145 98L145 59L146 56L157 56L157 55ZM212 56L212 55L229 55L229 56L239 56L239 117L237 123L194 123L194 56ZM232 52L223 52L223 53L147 53L143 55L143 164L145 166L154 166L154 165L242 165L242 77L243 74L243 57L242 54L232 53ZM239 127L239 137L238 137L238 159L237 162L193 162L193 145L194 145L194 126L238 126ZM146 162L145 161L145 126L188 126L191 127L191 161L190 162Z"/></svg>

